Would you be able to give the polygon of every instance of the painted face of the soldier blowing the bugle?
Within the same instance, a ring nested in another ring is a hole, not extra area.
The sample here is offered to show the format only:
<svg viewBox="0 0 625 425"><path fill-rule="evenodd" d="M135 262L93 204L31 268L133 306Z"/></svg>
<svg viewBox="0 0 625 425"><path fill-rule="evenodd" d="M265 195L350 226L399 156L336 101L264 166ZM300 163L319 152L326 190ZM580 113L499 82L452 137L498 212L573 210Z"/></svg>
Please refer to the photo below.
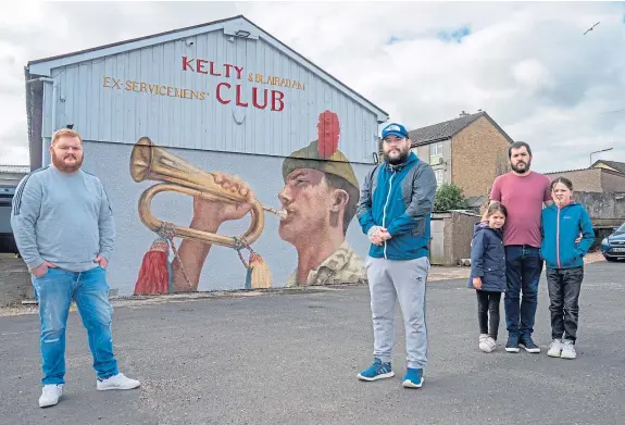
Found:
<svg viewBox="0 0 625 425"><path fill-rule="evenodd" d="M287 218L280 221L278 235L298 246L310 241L312 234L327 228L332 214L345 210L349 196L345 190L329 187L323 172L297 168L287 176L278 199L288 213ZM337 226L337 232L342 233L342 224Z"/></svg>

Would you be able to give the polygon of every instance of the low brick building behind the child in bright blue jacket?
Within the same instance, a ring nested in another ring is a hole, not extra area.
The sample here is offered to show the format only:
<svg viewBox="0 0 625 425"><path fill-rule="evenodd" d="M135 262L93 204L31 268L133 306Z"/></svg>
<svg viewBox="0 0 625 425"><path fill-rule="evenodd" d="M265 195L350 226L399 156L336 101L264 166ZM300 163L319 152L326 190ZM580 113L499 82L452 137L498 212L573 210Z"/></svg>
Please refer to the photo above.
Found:
<svg viewBox="0 0 625 425"><path fill-rule="evenodd" d="M589 168L545 174L551 180L555 177L568 178L575 191L600 193L625 191L625 163L623 162L599 160Z"/></svg>

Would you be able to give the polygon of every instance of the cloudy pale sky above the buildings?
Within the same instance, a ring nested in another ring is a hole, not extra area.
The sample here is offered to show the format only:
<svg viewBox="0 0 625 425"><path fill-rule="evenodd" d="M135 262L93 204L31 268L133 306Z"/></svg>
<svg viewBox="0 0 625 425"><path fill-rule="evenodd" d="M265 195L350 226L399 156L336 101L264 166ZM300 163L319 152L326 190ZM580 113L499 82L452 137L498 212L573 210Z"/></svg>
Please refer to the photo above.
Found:
<svg viewBox="0 0 625 425"><path fill-rule="evenodd" d="M483 110L533 168L625 162L625 2L29 2L0 15L0 164L29 60L243 14L409 129ZM591 32L584 33L600 22Z"/></svg>

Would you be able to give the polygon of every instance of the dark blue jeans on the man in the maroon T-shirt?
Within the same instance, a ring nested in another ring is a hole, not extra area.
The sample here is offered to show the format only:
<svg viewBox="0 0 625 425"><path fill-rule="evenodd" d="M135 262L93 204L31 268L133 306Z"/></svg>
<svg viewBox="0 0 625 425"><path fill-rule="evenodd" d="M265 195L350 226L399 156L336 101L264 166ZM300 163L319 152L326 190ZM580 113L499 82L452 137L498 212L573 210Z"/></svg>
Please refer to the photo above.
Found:
<svg viewBox="0 0 625 425"><path fill-rule="evenodd" d="M538 282L542 273L540 249L527 245L505 247L505 277L508 289L503 305L508 334L522 338L534 333ZM523 293L523 298L521 298ZM520 304L521 299L521 304Z"/></svg>

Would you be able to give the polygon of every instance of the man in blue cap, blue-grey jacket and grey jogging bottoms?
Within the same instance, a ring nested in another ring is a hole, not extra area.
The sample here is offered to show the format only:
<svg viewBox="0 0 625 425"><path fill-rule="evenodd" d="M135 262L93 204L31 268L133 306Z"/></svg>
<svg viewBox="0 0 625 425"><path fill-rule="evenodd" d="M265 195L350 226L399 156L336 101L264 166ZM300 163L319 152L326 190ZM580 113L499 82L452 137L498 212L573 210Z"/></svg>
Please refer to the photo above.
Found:
<svg viewBox="0 0 625 425"><path fill-rule="evenodd" d="M402 125L389 124L382 138L384 163L365 176L357 212L372 242L365 267L374 329L374 363L358 377L395 376L390 359L399 301L407 338L403 386L421 388L427 362L425 282L436 177L429 164L410 151L411 140Z"/></svg>

